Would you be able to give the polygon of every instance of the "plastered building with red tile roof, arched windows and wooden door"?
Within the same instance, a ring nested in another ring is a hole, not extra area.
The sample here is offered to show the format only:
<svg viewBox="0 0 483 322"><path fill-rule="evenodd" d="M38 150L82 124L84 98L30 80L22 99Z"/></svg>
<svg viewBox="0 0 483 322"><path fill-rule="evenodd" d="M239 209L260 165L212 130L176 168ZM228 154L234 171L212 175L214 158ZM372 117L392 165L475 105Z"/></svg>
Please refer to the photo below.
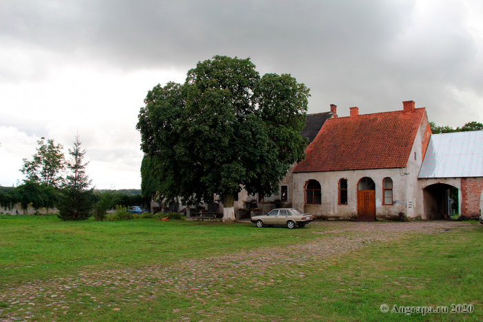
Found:
<svg viewBox="0 0 483 322"><path fill-rule="evenodd" d="M327 120L293 169L293 206L324 219L422 218L417 175L431 137L425 108Z"/></svg>

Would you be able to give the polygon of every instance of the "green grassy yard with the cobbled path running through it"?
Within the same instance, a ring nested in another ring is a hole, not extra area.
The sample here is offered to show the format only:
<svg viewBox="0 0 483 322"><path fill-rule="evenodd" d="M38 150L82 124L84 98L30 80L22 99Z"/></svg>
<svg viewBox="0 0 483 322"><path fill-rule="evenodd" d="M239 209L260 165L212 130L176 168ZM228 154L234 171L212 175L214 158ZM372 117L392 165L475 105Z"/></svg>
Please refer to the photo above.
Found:
<svg viewBox="0 0 483 322"><path fill-rule="evenodd" d="M476 222L0 216L0 321L482 321L482 234ZM451 304L473 312L391 314Z"/></svg>

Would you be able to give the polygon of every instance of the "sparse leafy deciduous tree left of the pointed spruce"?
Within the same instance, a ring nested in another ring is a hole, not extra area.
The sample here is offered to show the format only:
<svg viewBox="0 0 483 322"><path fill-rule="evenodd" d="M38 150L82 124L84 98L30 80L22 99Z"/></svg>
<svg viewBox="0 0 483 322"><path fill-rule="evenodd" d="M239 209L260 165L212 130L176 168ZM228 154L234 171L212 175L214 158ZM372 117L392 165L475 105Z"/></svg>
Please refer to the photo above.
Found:
<svg viewBox="0 0 483 322"><path fill-rule="evenodd" d="M37 182L47 184L52 187L59 187L63 182L61 172L65 168L63 156L63 146L55 145L54 140L45 138L37 141L37 153L33 155L33 160L23 159L23 167L20 170L26 176L25 182Z"/></svg>

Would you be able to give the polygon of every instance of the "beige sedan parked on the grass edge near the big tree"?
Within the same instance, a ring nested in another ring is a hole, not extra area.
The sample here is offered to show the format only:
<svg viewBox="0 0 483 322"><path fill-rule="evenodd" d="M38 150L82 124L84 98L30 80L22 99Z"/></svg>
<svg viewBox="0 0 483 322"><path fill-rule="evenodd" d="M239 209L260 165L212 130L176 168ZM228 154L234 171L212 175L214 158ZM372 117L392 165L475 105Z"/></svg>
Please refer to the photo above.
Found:
<svg viewBox="0 0 483 322"><path fill-rule="evenodd" d="M266 215L254 216L251 218L257 227L262 228L265 226L282 225L293 229L297 226L304 227L314 218L311 214L304 214L303 211L295 208L279 208L273 209Z"/></svg>

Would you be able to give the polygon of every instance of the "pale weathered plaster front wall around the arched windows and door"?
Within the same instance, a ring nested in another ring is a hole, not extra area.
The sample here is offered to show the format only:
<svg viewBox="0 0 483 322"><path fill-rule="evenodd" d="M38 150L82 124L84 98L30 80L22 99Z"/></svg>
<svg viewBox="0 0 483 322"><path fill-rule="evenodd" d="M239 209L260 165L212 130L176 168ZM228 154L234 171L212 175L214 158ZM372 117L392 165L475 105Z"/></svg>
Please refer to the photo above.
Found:
<svg viewBox="0 0 483 322"><path fill-rule="evenodd" d="M294 207L304 210L305 183L315 179L321 184L322 205L308 207L312 214L327 219L354 218L357 216L357 183L361 178L368 177L375 183L377 218L398 218L400 212L407 214L408 176L403 176L402 173L404 170L399 168L293 173ZM382 181L387 177L393 180L393 205L382 205ZM338 184L342 178L348 184L347 205L338 205Z"/></svg>

